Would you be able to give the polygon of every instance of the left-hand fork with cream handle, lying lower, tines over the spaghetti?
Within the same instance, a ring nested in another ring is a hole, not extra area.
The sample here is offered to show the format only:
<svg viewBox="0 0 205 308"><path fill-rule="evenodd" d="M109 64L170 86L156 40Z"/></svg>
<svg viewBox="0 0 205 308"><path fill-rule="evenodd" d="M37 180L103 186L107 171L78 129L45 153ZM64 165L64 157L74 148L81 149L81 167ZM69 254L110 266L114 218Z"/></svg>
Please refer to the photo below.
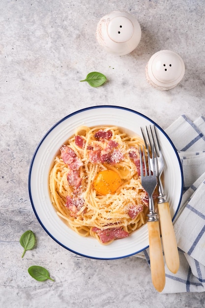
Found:
<svg viewBox="0 0 205 308"><path fill-rule="evenodd" d="M147 148L148 149L148 148ZM143 146L143 153L140 150L140 169L142 186L146 190L149 197L149 214L147 221L148 237L149 237L149 258L152 283L158 292L161 292L165 286L165 268L162 253L162 245L160 239L159 220L154 210L153 192L157 185L155 168L154 166L154 147L152 147L152 158L150 158L149 151L147 151L148 166L146 165L146 154ZM145 168L143 168L145 167ZM145 174L144 174L145 169Z"/></svg>

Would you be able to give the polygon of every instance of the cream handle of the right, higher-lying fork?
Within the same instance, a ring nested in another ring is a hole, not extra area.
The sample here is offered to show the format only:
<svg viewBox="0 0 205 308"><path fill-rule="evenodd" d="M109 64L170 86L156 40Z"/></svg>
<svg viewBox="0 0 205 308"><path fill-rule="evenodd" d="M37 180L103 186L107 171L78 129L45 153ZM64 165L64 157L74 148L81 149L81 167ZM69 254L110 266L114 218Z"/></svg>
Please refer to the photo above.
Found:
<svg viewBox="0 0 205 308"><path fill-rule="evenodd" d="M176 244L175 231L170 215L169 202L158 203L162 243L165 261L168 269L176 274L179 268L179 256Z"/></svg>

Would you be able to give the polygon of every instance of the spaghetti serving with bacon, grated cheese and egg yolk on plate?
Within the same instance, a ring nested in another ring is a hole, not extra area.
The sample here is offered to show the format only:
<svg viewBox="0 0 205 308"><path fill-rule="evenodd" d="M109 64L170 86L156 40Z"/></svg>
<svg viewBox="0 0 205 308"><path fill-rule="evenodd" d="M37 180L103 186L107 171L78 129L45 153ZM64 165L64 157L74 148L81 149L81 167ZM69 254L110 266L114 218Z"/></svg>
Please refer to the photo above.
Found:
<svg viewBox="0 0 205 308"><path fill-rule="evenodd" d="M80 126L50 172L52 203L75 232L101 244L146 223L148 198L140 180L139 136L117 126Z"/></svg>

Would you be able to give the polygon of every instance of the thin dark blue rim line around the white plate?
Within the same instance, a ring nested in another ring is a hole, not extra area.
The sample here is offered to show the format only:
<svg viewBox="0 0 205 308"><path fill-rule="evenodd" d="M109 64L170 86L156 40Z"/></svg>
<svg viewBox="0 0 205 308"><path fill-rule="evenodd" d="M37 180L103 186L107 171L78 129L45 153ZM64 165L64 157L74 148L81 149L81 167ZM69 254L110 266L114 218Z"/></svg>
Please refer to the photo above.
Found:
<svg viewBox="0 0 205 308"><path fill-rule="evenodd" d="M181 173L181 192L180 192L180 197L179 197L179 202L178 202L178 206L177 206L177 209L176 209L176 212L175 212L175 215L173 216L172 220L174 221L176 215L177 215L177 212L179 210L179 206L180 206L180 203L181 203L181 198L182 198L182 194L183 194L183 170L182 170L182 165L181 165L181 161L180 161L180 158L179 158L179 155L177 153L177 150L176 150L176 147L175 145L173 144L172 140L170 139L170 137L166 134L166 132L157 124L155 123L153 120L151 120L150 118L146 117L144 114L138 112L138 111L135 111L135 110L132 110L130 108L126 108L126 107L121 107L121 106L116 106L116 105L99 105L99 106L90 106L90 107L86 107L86 108L83 108L83 109L80 109L80 110L77 110L67 116L65 116L64 118L62 118L61 120L59 120L56 124L54 124L48 131L47 133L43 136L43 138L41 139L41 141L39 142L36 150L34 151L34 154L31 158L31 162L30 162L30 167L29 167L29 177L28 177L28 188L29 188L29 198L30 198L30 202L31 202L31 206L32 206L32 209L33 209L33 212L38 220L38 222L40 223L40 225L42 226L42 228L46 231L46 233L55 241L57 242L60 246L64 247L65 249L77 254L77 255L81 255L83 257L87 257L87 258L90 258L90 259L99 259L99 260L113 260L113 259L121 259L121 258L126 258L126 257L129 257L129 256L132 256L132 255L135 255L139 252L142 252L144 251L145 249L148 248L148 246L144 247L143 249L140 249L136 252L133 252L133 253L130 253L130 254L127 254L127 255L123 255L123 256L119 256L119 257L95 257L95 256L88 256L86 254L83 254L83 253L80 253L78 251L75 251L65 245L63 245L62 243L59 242L59 240L57 240L48 230L47 228L44 226L44 224L42 223L40 217L38 216L37 212L36 212L36 209L35 209L35 205L34 205L34 202L33 202L33 198L32 198L32 193L31 193L31 185L30 185L30 180L31 180L31 173L32 173L32 166L33 166L33 163L34 163L34 160L35 160L35 156L36 154L38 153L39 151L39 148L41 147L42 143L44 142L44 140L46 139L46 137L51 133L51 131L53 131L53 129L55 127L57 127L60 123L62 123L63 121L67 120L68 118L78 114L78 113L82 113L84 111L88 111L88 110L92 110L92 109L101 109L101 108L111 108L111 109L121 109L121 110L124 110L124 111L128 111L128 112L132 112L140 117L143 117L145 118L146 120L148 120L150 123L154 124L164 135L165 137L168 139L169 143L171 144L172 148L174 149L175 151L175 154L176 154L176 157L177 157L177 160L178 160L178 164L179 164L179 167L180 167L180 173Z"/></svg>

